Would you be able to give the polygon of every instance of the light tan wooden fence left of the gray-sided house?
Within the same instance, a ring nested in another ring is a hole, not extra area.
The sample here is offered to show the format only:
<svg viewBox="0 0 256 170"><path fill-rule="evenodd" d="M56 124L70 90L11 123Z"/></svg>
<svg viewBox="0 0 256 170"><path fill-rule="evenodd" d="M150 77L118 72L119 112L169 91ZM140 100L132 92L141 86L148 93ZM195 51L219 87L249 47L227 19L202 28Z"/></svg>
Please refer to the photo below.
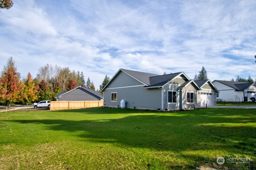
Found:
<svg viewBox="0 0 256 170"><path fill-rule="evenodd" d="M51 101L50 110L80 109L103 106L102 101Z"/></svg>

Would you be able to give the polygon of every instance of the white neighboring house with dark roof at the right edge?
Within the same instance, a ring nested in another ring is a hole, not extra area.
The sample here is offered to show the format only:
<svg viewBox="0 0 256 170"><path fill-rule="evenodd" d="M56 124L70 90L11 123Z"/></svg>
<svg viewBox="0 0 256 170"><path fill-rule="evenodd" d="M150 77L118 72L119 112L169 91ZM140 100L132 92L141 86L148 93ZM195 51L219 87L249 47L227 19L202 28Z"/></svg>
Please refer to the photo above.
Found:
<svg viewBox="0 0 256 170"><path fill-rule="evenodd" d="M217 94L217 100L233 102L250 101L250 95L256 93L255 83L223 80L214 80L212 83L220 92Z"/></svg>

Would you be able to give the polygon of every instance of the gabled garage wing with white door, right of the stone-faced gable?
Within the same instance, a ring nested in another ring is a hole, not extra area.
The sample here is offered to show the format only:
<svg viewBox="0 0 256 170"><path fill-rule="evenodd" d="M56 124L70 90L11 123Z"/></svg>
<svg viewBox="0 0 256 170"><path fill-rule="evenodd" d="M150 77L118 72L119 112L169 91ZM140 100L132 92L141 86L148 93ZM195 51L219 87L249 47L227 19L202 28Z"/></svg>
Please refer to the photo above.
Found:
<svg viewBox="0 0 256 170"><path fill-rule="evenodd" d="M216 94L218 89L212 84L210 80L197 80L196 84L201 88L198 91L198 107L216 106Z"/></svg>

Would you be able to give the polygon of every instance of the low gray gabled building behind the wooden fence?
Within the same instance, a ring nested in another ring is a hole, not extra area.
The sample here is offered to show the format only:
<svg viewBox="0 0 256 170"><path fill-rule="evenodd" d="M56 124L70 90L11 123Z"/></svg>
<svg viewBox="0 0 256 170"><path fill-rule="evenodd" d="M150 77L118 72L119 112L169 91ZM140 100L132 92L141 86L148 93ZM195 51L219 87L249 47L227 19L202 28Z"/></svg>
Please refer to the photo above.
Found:
<svg viewBox="0 0 256 170"><path fill-rule="evenodd" d="M103 95L95 90L79 86L69 91L61 91L55 98L57 101L96 101L102 100Z"/></svg>

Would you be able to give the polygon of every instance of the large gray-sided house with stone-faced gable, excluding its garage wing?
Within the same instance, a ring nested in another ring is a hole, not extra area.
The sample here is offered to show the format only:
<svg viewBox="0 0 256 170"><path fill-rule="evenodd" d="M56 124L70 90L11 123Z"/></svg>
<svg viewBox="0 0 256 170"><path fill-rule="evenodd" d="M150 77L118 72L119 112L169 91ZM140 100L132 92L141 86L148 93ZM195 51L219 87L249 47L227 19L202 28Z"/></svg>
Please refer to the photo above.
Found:
<svg viewBox="0 0 256 170"><path fill-rule="evenodd" d="M183 72L157 75L126 69L119 69L102 89L104 107L120 107L125 100L126 108L164 111L198 108L200 90Z"/></svg>

